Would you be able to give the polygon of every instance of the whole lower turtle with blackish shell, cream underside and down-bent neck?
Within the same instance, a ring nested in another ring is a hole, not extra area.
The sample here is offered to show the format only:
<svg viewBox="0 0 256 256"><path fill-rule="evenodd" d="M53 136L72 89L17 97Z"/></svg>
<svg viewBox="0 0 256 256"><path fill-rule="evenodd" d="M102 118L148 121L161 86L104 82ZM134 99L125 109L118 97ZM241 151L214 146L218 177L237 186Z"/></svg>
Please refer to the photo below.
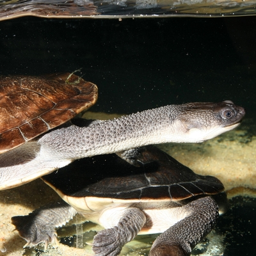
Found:
<svg viewBox="0 0 256 256"><path fill-rule="evenodd" d="M218 205L209 195L220 195L223 184L153 146L139 148L136 161L140 167L116 154L94 156L42 177L68 204L13 217L26 246L56 240L55 227L79 212L106 228L93 239L98 256L118 255L137 234L160 232L150 255L190 255L216 223Z"/></svg>

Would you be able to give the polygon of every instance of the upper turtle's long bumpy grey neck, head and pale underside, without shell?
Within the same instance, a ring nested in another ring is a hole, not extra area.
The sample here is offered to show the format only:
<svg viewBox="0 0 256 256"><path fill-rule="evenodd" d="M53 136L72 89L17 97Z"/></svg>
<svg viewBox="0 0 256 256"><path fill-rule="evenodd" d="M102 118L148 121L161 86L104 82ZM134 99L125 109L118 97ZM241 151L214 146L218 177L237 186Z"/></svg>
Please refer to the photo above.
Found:
<svg viewBox="0 0 256 256"><path fill-rule="evenodd" d="M83 157L209 140L237 127L244 114L243 108L226 100L169 105L80 126L68 123L1 154L0 189L19 186Z"/></svg>

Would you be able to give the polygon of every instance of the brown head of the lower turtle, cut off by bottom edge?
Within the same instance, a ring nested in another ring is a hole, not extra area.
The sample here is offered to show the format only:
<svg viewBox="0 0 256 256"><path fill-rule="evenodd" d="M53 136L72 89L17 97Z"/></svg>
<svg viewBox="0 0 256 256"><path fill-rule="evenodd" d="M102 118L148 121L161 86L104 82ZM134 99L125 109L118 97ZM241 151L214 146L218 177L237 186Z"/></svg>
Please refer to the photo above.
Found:
<svg viewBox="0 0 256 256"><path fill-rule="evenodd" d="M189 256L190 253L186 252L180 245L170 244L157 244L150 250L148 256Z"/></svg>

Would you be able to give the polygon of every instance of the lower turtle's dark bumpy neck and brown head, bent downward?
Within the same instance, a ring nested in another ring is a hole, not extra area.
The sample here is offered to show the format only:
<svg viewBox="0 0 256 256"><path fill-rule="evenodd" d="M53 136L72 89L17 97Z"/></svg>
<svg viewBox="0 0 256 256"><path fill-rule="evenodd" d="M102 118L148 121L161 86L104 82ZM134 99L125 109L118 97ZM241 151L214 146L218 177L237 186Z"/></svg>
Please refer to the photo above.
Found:
<svg viewBox="0 0 256 256"><path fill-rule="evenodd" d="M214 227L219 213L218 205L210 197L199 198L187 205L191 214L157 237L149 256L189 256L191 251Z"/></svg>

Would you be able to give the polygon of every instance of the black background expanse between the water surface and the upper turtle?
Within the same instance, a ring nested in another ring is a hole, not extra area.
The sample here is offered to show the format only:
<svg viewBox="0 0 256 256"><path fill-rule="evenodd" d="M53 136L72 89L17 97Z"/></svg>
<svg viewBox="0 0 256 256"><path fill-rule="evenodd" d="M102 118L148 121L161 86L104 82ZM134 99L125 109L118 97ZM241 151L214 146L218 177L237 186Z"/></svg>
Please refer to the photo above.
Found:
<svg viewBox="0 0 256 256"><path fill-rule="evenodd" d="M233 100L255 111L256 17L0 22L0 73L73 72L99 86L93 111Z"/></svg>

